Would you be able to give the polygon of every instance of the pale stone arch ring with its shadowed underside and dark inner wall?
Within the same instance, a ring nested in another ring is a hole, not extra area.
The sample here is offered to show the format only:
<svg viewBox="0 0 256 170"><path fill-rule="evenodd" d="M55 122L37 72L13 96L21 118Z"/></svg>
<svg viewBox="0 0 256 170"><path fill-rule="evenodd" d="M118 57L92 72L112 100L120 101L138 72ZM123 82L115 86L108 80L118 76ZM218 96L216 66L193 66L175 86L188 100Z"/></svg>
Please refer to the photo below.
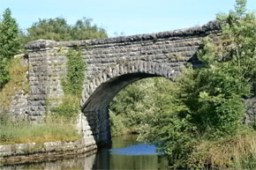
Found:
<svg viewBox="0 0 256 170"><path fill-rule="evenodd" d="M177 78L181 68L163 63L121 63L103 70L84 85L81 110L97 145L111 141L109 127L109 103L125 86L143 78ZM86 134L87 135L87 134Z"/></svg>

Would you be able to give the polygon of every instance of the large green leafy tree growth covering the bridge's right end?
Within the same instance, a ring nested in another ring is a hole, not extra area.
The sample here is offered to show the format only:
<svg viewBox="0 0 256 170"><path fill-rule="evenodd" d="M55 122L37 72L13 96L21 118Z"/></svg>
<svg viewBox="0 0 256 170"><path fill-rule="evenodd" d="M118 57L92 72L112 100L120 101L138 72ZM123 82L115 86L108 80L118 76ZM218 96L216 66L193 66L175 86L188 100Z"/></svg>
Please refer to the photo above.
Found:
<svg viewBox="0 0 256 170"><path fill-rule="evenodd" d="M245 129L243 100L256 84L256 18L255 13L245 13L245 4L246 0L237 0L235 11L217 16L222 36L218 42L211 35L203 41L204 48L198 52L203 68L184 69L182 77L177 78L177 90L172 93L177 101L171 100L175 112L162 112L158 118L145 122L147 128L142 138L157 144L168 155L171 166L197 169L200 164L211 166L213 162L207 162L209 157L197 152L197 145L207 140L207 145L216 146L222 144L218 140L229 137L232 141ZM227 147L232 144L226 141ZM192 152L199 158L191 158ZM250 154L246 156L251 158ZM233 160L234 157L229 159ZM235 162L224 162L225 167L230 164Z"/></svg>

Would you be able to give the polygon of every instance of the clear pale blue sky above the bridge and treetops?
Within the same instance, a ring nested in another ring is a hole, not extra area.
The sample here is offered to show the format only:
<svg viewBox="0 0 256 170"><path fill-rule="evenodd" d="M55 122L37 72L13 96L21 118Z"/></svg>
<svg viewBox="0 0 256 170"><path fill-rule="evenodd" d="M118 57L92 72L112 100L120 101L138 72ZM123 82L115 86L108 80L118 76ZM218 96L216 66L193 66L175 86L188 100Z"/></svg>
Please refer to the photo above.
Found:
<svg viewBox="0 0 256 170"><path fill-rule="evenodd" d="M109 36L157 33L206 24L215 14L234 9L235 0L0 0L0 13L10 8L19 27L26 29L39 18L93 18ZM256 0L247 1L256 10Z"/></svg>

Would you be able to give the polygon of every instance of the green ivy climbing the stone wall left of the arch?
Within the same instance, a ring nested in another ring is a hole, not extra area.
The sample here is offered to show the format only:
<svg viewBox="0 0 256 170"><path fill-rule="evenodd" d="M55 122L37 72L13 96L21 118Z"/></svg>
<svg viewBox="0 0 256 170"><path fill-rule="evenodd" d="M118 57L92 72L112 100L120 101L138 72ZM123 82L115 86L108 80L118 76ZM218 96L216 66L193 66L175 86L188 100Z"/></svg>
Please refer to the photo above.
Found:
<svg viewBox="0 0 256 170"><path fill-rule="evenodd" d="M81 93L85 80L86 66L81 50L70 49L67 55L67 73L62 80L64 97L59 99L59 104L50 111L56 119L62 117L68 122L75 121L79 115ZM71 102L72 101L72 102Z"/></svg>

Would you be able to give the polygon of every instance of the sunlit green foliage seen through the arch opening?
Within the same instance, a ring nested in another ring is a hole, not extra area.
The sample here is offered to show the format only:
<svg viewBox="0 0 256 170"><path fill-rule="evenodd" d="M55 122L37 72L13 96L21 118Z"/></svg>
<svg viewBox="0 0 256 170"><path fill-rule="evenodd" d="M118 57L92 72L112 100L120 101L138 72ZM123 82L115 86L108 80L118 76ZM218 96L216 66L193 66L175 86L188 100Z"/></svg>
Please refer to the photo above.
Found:
<svg viewBox="0 0 256 170"><path fill-rule="evenodd" d="M125 87L110 104L112 135L139 133L144 121L165 107L170 108L171 86L166 78L146 78Z"/></svg>

